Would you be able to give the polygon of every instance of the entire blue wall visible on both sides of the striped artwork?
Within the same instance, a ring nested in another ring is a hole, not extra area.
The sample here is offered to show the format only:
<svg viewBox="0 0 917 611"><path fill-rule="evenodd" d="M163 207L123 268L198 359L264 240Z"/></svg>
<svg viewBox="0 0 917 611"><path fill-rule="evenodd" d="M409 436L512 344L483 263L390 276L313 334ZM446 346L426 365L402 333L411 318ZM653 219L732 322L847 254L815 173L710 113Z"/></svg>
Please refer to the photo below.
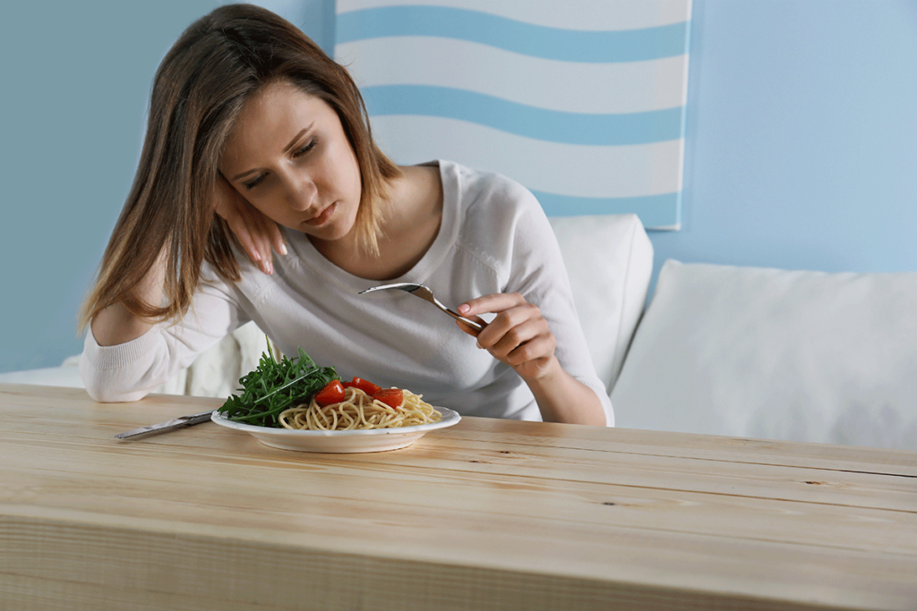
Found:
<svg viewBox="0 0 917 611"><path fill-rule="evenodd" d="M75 312L136 168L162 54L215 0L7 3L0 371L82 349ZM333 43L331 0L271 0ZM694 0L683 261L917 270L917 2Z"/></svg>

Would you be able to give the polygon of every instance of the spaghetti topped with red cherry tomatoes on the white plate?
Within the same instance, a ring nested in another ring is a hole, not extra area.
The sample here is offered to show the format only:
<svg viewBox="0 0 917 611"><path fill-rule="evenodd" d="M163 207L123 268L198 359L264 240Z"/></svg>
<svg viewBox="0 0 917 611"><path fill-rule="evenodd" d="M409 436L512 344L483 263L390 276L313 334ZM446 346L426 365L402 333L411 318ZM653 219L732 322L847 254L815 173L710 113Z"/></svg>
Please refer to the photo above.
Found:
<svg viewBox="0 0 917 611"><path fill-rule="evenodd" d="M352 431L416 426L441 418L421 395L403 388L382 388L355 377L344 384L328 382L308 404L283 411L279 420L286 429Z"/></svg>

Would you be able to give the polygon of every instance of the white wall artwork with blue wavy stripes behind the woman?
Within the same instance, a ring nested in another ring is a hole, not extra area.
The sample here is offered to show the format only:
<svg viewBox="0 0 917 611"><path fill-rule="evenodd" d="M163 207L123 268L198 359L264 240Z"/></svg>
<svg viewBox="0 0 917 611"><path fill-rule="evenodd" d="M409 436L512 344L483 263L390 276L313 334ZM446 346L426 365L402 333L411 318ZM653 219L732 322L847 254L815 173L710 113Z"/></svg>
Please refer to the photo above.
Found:
<svg viewBox="0 0 917 611"><path fill-rule="evenodd" d="M690 25L691 0L337 0L335 57L397 163L678 229Z"/></svg>

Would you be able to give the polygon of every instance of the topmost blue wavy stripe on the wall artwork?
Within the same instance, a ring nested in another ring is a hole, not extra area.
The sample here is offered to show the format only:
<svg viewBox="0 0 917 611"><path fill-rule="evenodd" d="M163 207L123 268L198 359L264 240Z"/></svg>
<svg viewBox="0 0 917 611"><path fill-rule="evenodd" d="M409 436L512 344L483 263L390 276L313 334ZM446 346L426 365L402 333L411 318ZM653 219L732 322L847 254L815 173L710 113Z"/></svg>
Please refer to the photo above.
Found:
<svg viewBox="0 0 917 611"><path fill-rule="evenodd" d="M615 31L561 29L448 6L382 6L337 16L337 44L392 36L458 38L547 60L604 63L688 52L688 22Z"/></svg>

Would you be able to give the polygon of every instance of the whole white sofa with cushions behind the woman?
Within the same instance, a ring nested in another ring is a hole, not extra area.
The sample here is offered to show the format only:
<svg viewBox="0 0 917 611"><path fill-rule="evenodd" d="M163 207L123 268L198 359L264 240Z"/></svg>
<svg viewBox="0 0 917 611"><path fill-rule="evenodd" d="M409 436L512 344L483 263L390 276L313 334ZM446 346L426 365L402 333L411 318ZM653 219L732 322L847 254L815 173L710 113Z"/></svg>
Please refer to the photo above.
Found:
<svg viewBox="0 0 917 611"><path fill-rule="evenodd" d="M917 272L662 267L634 214L552 218L596 369L624 428L917 450ZM160 388L226 397L252 324ZM76 358L0 382L82 386Z"/></svg>

